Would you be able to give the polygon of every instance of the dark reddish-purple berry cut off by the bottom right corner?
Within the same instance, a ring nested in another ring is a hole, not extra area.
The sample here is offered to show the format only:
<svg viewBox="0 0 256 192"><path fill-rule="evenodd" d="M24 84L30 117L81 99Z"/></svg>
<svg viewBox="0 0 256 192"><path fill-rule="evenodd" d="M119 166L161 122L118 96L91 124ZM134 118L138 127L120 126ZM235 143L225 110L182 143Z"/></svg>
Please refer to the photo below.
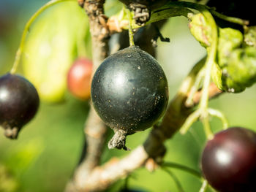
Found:
<svg viewBox="0 0 256 192"><path fill-rule="evenodd" d="M256 133L240 127L220 131L203 150L202 169L218 191L256 191Z"/></svg>

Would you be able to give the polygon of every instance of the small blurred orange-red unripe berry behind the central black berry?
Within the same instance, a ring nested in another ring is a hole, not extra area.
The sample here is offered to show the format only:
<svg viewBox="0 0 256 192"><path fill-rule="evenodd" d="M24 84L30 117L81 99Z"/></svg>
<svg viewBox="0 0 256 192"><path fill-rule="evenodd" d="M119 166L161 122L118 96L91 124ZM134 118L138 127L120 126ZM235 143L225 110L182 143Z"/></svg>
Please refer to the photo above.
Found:
<svg viewBox="0 0 256 192"><path fill-rule="evenodd" d="M86 100L91 96L92 61L78 58L67 73L67 87L78 99Z"/></svg>

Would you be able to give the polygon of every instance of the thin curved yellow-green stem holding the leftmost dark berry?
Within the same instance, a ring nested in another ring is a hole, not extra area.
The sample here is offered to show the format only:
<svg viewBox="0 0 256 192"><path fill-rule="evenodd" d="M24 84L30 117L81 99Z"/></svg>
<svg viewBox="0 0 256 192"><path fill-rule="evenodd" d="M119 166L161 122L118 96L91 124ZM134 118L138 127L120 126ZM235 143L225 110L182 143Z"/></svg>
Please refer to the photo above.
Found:
<svg viewBox="0 0 256 192"><path fill-rule="evenodd" d="M53 6L54 4L58 4L60 2L63 2L63 1L76 1L76 0L52 0L52 1L49 1L48 3L46 3L45 5L43 5L42 7L40 7L37 12L34 13L34 15L32 15L32 17L29 19L29 21L26 23L26 26L23 30L23 34L22 34L22 37L21 37L21 40L20 40L20 46L18 47L18 50L16 52L16 55L15 55L15 61L14 61L14 64L12 66L12 69L10 71L11 74L14 74L18 68L18 64L20 64L20 57L21 57L21 54L23 53L23 48L24 48L24 42L25 42L25 39L26 39L26 35L28 34L29 32L29 28L31 26L31 24L34 22L34 20L36 20L36 18L45 10L47 9L48 7L51 7Z"/></svg>

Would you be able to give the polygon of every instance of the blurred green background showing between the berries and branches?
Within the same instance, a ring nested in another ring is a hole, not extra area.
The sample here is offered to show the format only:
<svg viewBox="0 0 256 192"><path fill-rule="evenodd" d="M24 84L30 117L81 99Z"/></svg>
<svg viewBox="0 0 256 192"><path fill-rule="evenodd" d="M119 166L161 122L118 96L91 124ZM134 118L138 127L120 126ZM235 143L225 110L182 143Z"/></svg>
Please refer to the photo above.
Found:
<svg viewBox="0 0 256 192"><path fill-rule="evenodd" d="M0 1L1 74L10 71L26 21L46 2ZM110 2L107 5L108 13L112 14L116 1L107 2ZM158 42L157 59L167 74L172 98L181 80L206 51L189 33L186 18L169 19L161 31L165 37L170 38L170 43ZM18 72L23 71L19 68ZM212 100L210 105L225 113L230 126L244 126L256 131L253 115L256 109L255 94L256 88L253 86L244 93L225 93ZM60 104L41 102L37 116L23 128L17 140L5 138L4 131L0 129L0 192L63 191L80 158L84 142L83 125L88 111L87 101L79 101L66 92L64 102ZM211 126L214 131L222 128L222 124L215 118L211 119ZM173 139L165 142L168 149L165 161L200 170L200 153L206 142L202 129L200 123L195 123L186 135L176 134ZM134 149L140 145L148 131L129 136L127 146ZM127 153L106 148L102 162ZM199 190L200 180L187 172L170 170L176 174L184 191ZM120 180L109 191L118 191L123 185L124 180ZM129 187L144 191L178 191L173 179L161 169L153 173L144 168L138 169L129 178Z"/></svg>

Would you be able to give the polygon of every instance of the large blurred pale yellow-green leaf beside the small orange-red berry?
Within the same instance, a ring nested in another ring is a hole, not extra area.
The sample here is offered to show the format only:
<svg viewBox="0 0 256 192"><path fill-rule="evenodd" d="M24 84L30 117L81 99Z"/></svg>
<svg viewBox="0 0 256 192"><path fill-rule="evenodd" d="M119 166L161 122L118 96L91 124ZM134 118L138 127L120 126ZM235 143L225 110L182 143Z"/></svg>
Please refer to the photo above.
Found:
<svg viewBox="0 0 256 192"><path fill-rule="evenodd" d="M86 50L80 43L88 38L89 28L85 25L88 22L84 10L76 1L65 1L48 8L31 26L24 47L23 71L43 101L64 100L67 70L78 53Z"/></svg>

